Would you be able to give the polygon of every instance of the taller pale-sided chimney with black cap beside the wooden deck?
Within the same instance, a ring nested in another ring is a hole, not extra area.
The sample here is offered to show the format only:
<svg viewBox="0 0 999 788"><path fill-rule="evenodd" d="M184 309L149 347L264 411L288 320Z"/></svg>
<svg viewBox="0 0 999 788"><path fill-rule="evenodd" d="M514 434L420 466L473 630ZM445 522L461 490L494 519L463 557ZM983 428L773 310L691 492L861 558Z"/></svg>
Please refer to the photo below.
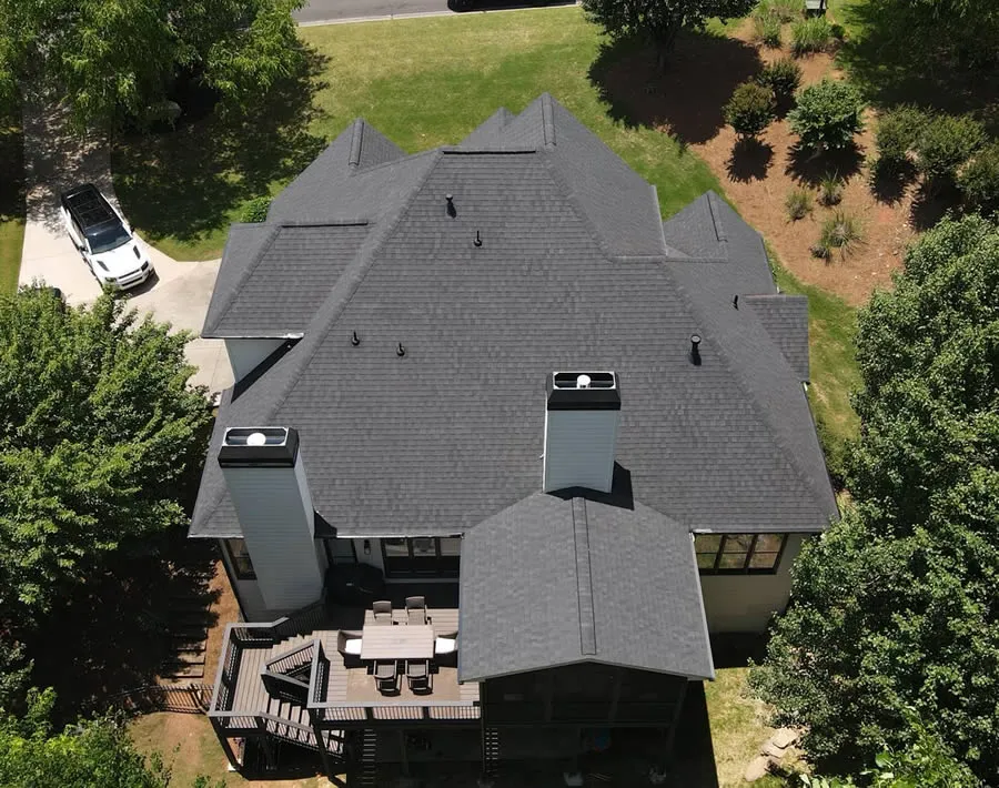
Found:
<svg viewBox="0 0 999 788"><path fill-rule="evenodd" d="M266 607L289 612L316 602L323 575L299 433L289 427L230 427L219 465Z"/></svg>

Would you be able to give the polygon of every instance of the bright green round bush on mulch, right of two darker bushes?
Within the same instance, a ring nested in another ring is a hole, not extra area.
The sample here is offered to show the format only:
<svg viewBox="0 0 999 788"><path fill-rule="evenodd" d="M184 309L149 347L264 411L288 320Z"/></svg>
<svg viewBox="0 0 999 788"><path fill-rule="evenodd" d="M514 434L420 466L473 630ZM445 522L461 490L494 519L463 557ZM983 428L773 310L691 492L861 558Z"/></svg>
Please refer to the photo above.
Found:
<svg viewBox="0 0 999 788"><path fill-rule="evenodd" d="M860 92L849 82L824 79L798 94L798 105L788 114L791 131L805 148L848 148L864 129Z"/></svg>

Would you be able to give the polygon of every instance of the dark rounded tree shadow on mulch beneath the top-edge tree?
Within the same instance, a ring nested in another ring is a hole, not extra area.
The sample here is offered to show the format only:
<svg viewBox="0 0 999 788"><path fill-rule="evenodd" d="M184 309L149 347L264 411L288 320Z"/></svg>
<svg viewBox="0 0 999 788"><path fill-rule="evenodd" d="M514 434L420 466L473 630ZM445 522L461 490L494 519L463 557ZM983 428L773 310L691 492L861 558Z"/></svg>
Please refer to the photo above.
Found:
<svg viewBox="0 0 999 788"><path fill-rule="evenodd" d="M609 104L608 114L628 127L665 127L686 143L710 140L725 125L722 108L739 83L763 63L741 41L683 31L665 72L656 54L637 41L601 47L589 81Z"/></svg>

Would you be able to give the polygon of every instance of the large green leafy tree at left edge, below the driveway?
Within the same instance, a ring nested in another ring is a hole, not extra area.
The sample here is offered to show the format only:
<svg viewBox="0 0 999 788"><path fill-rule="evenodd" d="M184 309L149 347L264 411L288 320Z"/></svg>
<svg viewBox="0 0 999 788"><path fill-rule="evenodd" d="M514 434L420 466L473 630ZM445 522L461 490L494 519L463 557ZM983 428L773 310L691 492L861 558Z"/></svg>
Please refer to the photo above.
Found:
<svg viewBox="0 0 999 788"><path fill-rule="evenodd" d="M0 632L185 523L211 418L186 341L109 295L90 309L41 287L0 299Z"/></svg>

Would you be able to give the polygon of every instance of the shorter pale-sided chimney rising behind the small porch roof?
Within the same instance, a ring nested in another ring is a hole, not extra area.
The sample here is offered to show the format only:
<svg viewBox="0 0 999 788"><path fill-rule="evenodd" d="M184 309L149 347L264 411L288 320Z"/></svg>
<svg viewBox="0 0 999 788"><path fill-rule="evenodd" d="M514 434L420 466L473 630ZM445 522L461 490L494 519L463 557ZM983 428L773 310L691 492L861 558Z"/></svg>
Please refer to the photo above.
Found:
<svg viewBox="0 0 999 788"><path fill-rule="evenodd" d="M620 421L617 375L554 372L547 394L545 492L587 487L609 493Z"/></svg>

